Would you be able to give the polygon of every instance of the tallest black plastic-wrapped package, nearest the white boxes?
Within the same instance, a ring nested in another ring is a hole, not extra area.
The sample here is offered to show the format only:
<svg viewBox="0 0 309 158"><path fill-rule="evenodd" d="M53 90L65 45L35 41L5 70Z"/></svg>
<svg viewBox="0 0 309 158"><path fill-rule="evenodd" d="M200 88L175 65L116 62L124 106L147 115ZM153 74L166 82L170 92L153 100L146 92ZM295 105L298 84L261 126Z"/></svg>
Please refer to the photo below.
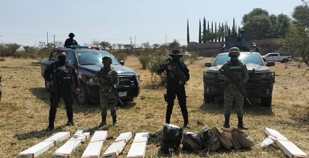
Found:
<svg viewBox="0 0 309 158"><path fill-rule="evenodd" d="M161 137L161 151L168 153L169 148L177 150L181 143L183 128L165 123Z"/></svg>

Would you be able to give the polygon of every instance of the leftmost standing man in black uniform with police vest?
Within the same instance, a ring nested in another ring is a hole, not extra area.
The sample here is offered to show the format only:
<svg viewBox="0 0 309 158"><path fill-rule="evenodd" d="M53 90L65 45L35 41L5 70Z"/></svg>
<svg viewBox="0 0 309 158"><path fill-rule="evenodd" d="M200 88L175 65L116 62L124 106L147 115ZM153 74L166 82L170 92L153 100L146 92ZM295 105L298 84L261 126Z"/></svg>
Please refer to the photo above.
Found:
<svg viewBox="0 0 309 158"><path fill-rule="evenodd" d="M50 77L51 74L57 75L57 83L54 83L53 78ZM49 81L49 85L54 87L54 84L57 84L57 102L60 101L62 96L63 101L66 105L66 116L68 117L68 126L74 126L73 122L73 96L71 93L71 85L75 83L75 93L79 92L79 80L77 76L76 68L70 63L66 62L66 52L59 51L58 61L46 66L44 72L44 78ZM73 79L74 78L74 79ZM49 126L47 131L54 129L54 121L57 113L58 104L54 104L53 91L50 92L50 109L49 109Z"/></svg>

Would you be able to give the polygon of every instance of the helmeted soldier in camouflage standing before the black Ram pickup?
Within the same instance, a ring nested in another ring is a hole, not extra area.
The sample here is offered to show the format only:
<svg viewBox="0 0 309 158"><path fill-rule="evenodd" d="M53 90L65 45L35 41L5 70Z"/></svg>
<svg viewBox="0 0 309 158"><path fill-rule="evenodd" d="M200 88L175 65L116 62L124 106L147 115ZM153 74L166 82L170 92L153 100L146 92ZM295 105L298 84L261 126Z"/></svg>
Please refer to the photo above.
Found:
<svg viewBox="0 0 309 158"><path fill-rule="evenodd" d="M106 125L106 115L107 115L107 106L111 109L111 115L113 119L113 126L118 126L116 117L116 104L117 104L117 98L112 92L112 88L108 87L105 82L107 82L104 78L102 78L100 75L102 71L110 77L112 83L114 84L115 88L117 88L119 84L118 74L117 71L111 67L112 64L112 58L109 56L105 56L102 58L102 63L104 64L103 68L99 69L95 76L93 77L93 82L100 83L100 104L101 104L101 116L102 116L102 122L99 125L99 127Z"/></svg>

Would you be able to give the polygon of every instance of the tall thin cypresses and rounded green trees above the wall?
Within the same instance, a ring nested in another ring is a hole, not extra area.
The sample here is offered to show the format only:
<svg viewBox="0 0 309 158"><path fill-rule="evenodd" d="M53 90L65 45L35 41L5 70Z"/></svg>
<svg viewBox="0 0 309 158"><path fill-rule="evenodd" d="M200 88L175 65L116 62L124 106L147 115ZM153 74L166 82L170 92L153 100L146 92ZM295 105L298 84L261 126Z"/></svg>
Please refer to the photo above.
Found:
<svg viewBox="0 0 309 158"><path fill-rule="evenodd" d="M199 21L199 41L198 43L223 42L226 36L238 34L243 29L253 37L253 39L269 39L285 37L286 32L292 23L292 19L283 13L279 15L271 14L262 8L254 8L248 14L243 15L241 25L235 23L233 18L232 27L225 21L224 23L203 20L203 30L201 29L201 19ZM189 38L189 20L187 20L187 42Z"/></svg>

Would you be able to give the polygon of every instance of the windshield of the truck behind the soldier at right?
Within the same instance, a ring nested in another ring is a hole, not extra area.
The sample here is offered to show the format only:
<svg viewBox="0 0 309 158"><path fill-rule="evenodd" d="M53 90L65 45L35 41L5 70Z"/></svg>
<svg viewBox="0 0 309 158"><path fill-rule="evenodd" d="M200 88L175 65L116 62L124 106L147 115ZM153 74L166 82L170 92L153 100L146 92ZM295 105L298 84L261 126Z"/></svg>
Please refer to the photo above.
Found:
<svg viewBox="0 0 309 158"><path fill-rule="evenodd" d="M223 65L226 61L231 60L231 58L226 55L219 55L216 61L214 62L213 66L217 65ZM240 54L240 57L238 57L238 60L241 60L246 65L260 65L265 66L264 62L260 58L259 54Z"/></svg>

